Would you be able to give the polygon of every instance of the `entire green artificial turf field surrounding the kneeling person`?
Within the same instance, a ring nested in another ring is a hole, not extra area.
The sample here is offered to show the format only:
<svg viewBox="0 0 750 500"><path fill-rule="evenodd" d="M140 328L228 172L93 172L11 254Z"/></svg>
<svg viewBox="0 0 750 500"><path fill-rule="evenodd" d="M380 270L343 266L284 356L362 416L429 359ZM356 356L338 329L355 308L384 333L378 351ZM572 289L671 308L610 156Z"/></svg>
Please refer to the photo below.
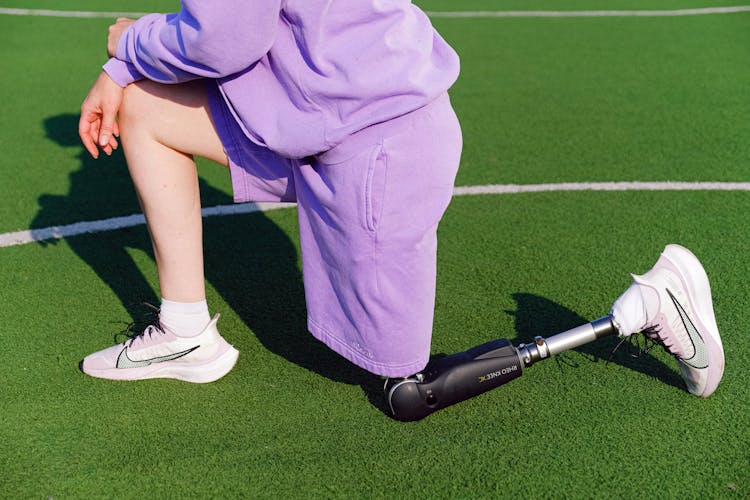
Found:
<svg viewBox="0 0 750 500"><path fill-rule="evenodd" d="M122 155L89 160L75 132L108 23L0 15L0 233L138 211ZM462 57L460 185L748 180L750 14L435 24ZM199 171L204 205L230 203L226 172ZM209 304L241 351L207 385L78 371L158 301L145 227L0 248L0 498L747 498L748 208L717 191L456 197L433 354L603 316L677 242L711 278L726 372L698 399L662 350L632 358L602 339L409 424L386 415L382 381L306 333L294 209L205 220Z"/></svg>

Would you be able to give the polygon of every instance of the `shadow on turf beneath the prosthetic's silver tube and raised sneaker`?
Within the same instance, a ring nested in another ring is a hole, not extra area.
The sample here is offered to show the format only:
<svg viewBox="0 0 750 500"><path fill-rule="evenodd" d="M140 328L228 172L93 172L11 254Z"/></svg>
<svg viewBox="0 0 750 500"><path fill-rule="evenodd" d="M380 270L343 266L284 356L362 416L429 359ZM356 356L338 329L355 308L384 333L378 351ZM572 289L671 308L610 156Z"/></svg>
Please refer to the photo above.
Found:
<svg viewBox="0 0 750 500"><path fill-rule="evenodd" d="M533 342L537 335L547 338L595 319L586 319L570 309L538 295L515 293L513 298L518 307L515 311L506 312L515 318L516 344ZM605 337L574 350L584 354L585 358L592 363L609 362L622 365L654 377L665 384L679 388L684 387L682 378L677 372L676 364L674 367L670 367L649 354L640 354L636 357L632 346L626 344L615 351L619 342L620 339L617 337ZM613 351L615 351L614 354ZM563 365L579 367L579 363L572 357L566 356L565 353L552 359L558 363L561 369Z"/></svg>

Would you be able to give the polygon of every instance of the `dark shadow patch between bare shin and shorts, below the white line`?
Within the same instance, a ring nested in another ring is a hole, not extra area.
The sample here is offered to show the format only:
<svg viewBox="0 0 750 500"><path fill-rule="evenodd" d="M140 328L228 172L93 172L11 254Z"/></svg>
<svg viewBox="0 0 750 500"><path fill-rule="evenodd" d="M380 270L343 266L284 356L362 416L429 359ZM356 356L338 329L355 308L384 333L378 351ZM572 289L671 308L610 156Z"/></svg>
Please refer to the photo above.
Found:
<svg viewBox="0 0 750 500"><path fill-rule="evenodd" d="M297 247L265 214L206 219L204 241L208 281L269 351L365 392L379 380L308 333Z"/></svg>

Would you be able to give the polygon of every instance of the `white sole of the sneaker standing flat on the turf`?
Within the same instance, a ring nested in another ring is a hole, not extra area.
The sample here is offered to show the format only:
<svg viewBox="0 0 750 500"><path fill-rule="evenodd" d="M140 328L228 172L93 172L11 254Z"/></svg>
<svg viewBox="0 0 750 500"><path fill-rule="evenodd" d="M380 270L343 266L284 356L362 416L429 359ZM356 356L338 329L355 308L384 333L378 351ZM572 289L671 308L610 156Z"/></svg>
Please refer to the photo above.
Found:
<svg viewBox="0 0 750 500"><path fill-rule="evenodd" d="M159 363L142 368L109 368L106 370L86 369L82 361L80 369L92 377L108 380L146 380L151 378L174 378L195 384L205 384L219 380L234 368L240 352L229 344L226 351L213 360L202 364ZM85 360L84 360L85 361Z"/></svg>

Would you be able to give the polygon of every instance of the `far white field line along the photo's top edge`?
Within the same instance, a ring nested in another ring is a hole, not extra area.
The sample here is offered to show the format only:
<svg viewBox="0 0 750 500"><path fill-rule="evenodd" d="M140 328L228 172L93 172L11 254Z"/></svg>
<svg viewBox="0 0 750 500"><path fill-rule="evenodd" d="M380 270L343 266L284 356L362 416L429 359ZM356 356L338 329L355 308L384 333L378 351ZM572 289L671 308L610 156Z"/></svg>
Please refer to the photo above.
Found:
<svg viewBox="0 0 750 500"><path fill-rule="evenodd" d="M477 17L678 17L708 14L732 14L750 12L750 5L732 7L707 7L678 10L509 10L509 11L427 11L430 17L477 18ZM43 16L75 18L141 17L145 12L95 12L83 10L14 9L0 7L0 15Z"/></svg>

